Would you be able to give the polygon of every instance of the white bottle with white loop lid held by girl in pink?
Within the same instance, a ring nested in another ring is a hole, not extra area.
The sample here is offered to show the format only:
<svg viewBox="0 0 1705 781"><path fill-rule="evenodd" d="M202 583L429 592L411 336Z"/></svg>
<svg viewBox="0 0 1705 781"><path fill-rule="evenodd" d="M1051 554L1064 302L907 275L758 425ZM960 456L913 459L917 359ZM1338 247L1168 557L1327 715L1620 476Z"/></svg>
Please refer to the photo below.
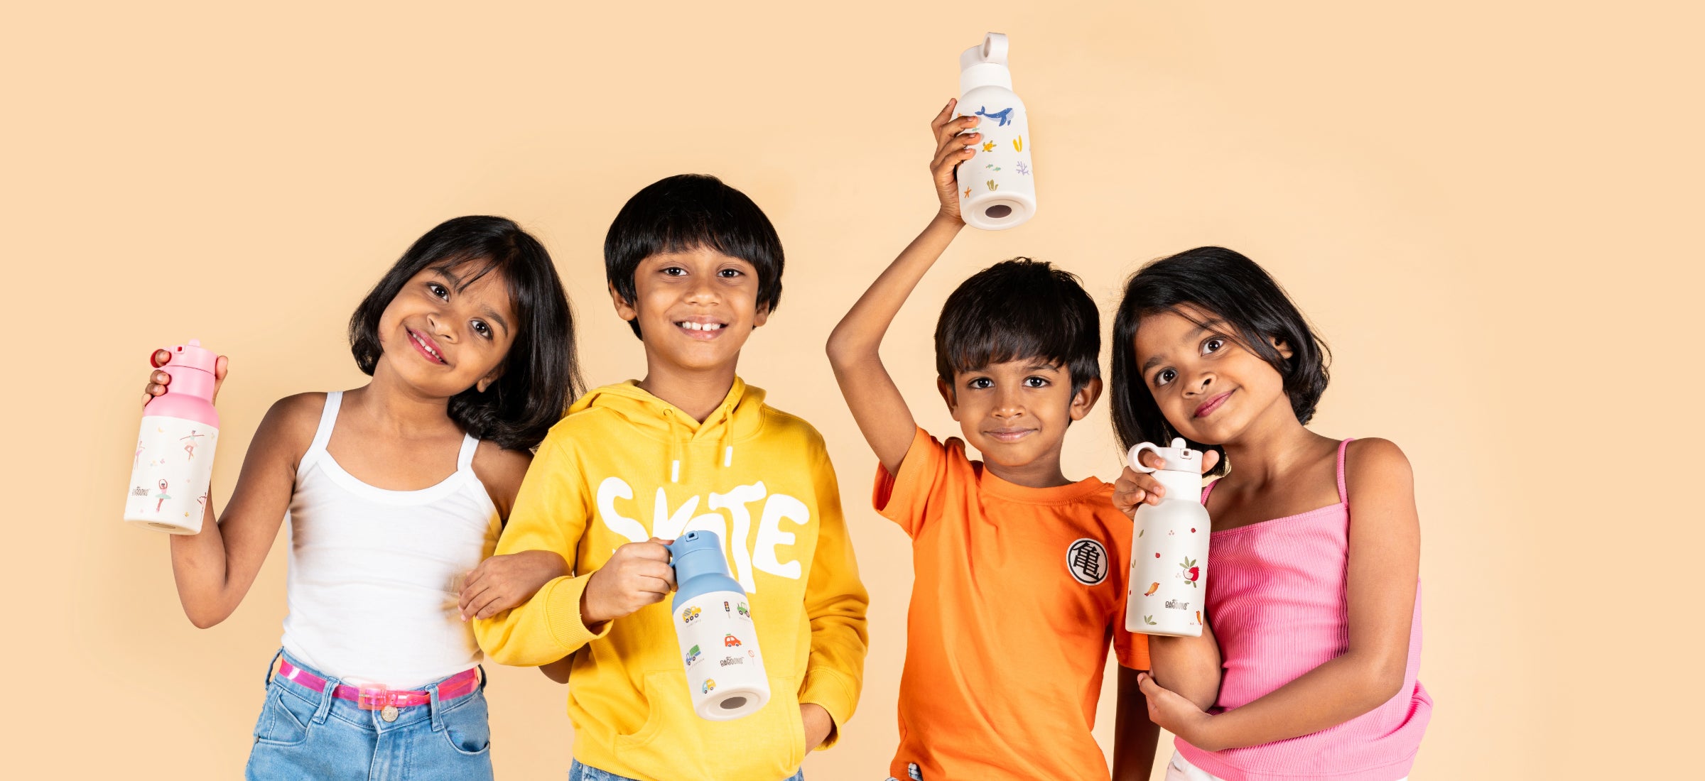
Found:
<svg viewBox="0 0 1705 781"><path fill-rule="evenodd" d="M1137 460L1154 450L1166 460L1151 469ZM1207 604L1207 508L1202 506L1202 454L1183 440L1171 447L1144 442L1127 455L1130 469L1154 472L1166 486L1159 505L1137 505L1130 541L1130 593L1125 629L1142 634L1200 638Z"/></svg>

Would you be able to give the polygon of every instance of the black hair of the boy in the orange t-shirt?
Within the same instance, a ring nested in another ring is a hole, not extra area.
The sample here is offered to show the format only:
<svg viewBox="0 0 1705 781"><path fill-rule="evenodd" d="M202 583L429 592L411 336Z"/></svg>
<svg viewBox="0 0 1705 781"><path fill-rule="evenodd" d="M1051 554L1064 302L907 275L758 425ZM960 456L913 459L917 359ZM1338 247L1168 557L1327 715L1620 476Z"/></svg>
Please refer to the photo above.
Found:
<svg viewBox="0 0 1705 781"><path fill-rule="evenodd" d="M1071 392L1101 377L1101 315L1078 278L1014 257L977 271L948 295L936 321L936 375L1040 358L1064 367Z"/></svg>

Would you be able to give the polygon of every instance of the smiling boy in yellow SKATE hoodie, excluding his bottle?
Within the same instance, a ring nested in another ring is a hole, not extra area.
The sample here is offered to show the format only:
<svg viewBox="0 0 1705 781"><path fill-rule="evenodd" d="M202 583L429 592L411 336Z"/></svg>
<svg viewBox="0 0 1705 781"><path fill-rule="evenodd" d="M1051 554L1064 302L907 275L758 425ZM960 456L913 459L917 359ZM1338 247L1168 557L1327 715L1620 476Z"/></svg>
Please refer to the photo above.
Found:
<svg viewBox="0 0 1705 781"><path fill-rule="evenodd" d="M571 575L489 617L464 597L479 646L566 657L571 781L803 778L858 704L868 597L822 437L735 375L781 298L781 240L738 189L672 176L622 206L604 261L646 377L588 392L539 445L496 552L556 552ZM735 721L692 713L665 602L663 542L694 529L725 541L769 674L769 703Z"/></svg>

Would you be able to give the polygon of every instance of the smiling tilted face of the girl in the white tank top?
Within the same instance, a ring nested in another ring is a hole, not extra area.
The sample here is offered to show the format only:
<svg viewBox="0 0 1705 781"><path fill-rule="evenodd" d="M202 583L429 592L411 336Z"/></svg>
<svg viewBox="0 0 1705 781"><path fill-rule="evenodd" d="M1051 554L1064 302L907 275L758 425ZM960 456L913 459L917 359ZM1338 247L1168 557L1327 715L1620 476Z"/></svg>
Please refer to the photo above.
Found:
<svg viewBox="0 0 1705 781"><path fill-rule="evenodd" d="M409 278L379 315L379 372L433 397L484 390L503 372L515 343L510 292L500 273L479 275L481 263L428 268Z"/></svg>

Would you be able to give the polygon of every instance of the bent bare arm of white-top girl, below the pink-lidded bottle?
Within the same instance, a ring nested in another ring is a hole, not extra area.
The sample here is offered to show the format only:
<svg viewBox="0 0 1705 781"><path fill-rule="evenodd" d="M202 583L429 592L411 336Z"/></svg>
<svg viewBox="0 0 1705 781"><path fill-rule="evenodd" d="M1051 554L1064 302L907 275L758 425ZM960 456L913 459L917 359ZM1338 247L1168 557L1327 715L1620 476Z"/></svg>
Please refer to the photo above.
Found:
<svg viewBox="0 0 1705 781"><path fill-rule="evenodd" d="M290 508L297 462L314 440L324 394L280 399L266 411L242 459L237 488L218 520L208 498L199 534L172 535L172 578L189 622L225 621L249 593Z"/></svg>

